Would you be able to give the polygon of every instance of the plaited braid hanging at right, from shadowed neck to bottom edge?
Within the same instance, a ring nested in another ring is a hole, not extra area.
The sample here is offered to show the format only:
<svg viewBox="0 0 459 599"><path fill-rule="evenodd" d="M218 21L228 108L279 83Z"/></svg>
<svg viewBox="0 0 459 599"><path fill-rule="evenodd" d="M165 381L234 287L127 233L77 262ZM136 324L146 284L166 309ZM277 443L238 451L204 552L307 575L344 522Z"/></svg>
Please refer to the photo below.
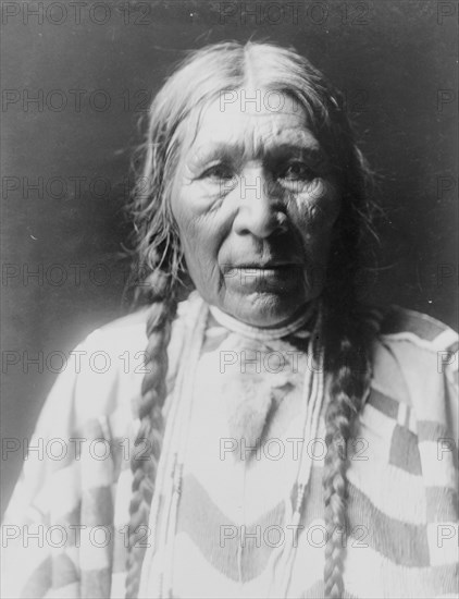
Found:
<svg viewBox="0 0 459 599"><path fill-rule="evenodd" d="M325 456L323 489L325 503L325 565L326 598L339 598L344 594L344 559L348 531L348 442L356 432L363 398L371 379L369 358L370 331L363 330L361 315L339 315L327 323L327 368L332 374L331 400L325 414ZM347 321L347 322L346 322ZM332 330L334 328L334 330ZM333 344L333 346L332 346Z"/></svg>

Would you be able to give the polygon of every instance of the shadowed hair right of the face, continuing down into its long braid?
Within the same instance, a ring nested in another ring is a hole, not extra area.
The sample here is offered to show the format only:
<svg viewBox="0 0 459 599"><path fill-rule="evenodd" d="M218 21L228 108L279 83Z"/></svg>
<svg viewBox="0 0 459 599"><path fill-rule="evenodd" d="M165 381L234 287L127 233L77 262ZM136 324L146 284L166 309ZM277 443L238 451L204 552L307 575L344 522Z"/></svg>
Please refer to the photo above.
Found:
<svg viewBox="0 0 459 599"><path fill-rule="evenodd" d="M377 239L373 227L374 206L369 200L372 173L355 145L351 124L336 94L338 110L333 121L340 133L338 155L345 156L338 172L344 190L343 206L335 223L335 239L323 293L325 371L331 377L330 402L325 413L327 452L323 472L325 508L324 594L326 599L344 595L348 517L348 444L355 437L359 415L372 377L371 347L374 327L359 305L356 273L361 268L362 247Z"/></svg>

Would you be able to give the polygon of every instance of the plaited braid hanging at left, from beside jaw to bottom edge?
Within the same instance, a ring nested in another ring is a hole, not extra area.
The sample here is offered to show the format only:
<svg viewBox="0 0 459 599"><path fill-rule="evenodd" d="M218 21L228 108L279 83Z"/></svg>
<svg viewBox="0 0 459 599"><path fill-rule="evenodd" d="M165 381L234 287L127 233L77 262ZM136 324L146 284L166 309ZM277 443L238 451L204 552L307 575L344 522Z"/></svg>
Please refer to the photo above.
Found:
<svg viewBox="0 0 459 599"><path fill-rule="evenodd" d="M150 514L154 480L161 453L168 371L168 344L172 321L176 314L176 292L171 278L161 270L150 274L151 306L147 318L147 374L141 384L138 417L140 427L131 462L133 472L129 506L129 550L127 555L126 597L138 595L140 571L146 551L146 533ZM149 452L146 454L146 450Z"/></svg>

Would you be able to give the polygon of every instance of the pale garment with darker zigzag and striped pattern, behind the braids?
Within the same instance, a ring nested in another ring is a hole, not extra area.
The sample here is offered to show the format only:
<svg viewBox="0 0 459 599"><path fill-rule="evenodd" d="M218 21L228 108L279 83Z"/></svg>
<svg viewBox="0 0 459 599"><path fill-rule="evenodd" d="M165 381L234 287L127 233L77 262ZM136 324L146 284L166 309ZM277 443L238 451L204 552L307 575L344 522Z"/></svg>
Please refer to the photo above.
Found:
<svg viewBox="0 0 459 599"><path fill-rule="evenodd" d="M201 302L196 293L183 302L173 327L166 418ZM5 514L3 597L124 597L145 318L95 331L59 376ZM174 597L275 596L277 558L293 540L284 526L301 443L305 343L255 343L209 318L171 555ZM398 308L382 316L372 389L349 448L346 597L458 595L457 350L456 333L432 318ZM323 597L323 439L322 415L293 598ZM151 597L158 564L147 549Z"/></svg>

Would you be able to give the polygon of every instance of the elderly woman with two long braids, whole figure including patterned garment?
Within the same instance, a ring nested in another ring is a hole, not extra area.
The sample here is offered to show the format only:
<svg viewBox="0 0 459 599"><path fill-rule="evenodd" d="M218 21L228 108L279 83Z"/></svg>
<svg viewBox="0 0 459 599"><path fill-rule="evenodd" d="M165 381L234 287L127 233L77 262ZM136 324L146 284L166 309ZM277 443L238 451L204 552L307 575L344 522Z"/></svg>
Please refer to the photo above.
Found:
<svg viewBox="0 0 459 599"><path fill-rule="evenodd" d="M147 306L45 405L5 596L457 592L456 335L357 302L369 171L338 93L293 50L209 46L145 148Z"/></svg>

